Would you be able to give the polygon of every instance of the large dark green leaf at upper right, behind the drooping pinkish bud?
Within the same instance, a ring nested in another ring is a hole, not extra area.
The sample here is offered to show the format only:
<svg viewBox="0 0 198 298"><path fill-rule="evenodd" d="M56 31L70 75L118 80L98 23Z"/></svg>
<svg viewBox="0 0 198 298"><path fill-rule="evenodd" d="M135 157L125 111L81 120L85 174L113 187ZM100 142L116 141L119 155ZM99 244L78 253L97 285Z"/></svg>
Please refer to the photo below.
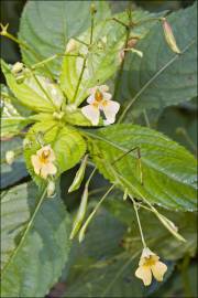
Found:
<svg viewBox="0 0 198 298"><path fill-rule="evenodd" d="M197 95L196 10L195 3L167 18L182 50L180 55L168 49L160 23L138 44L143 58L128 55L119 95L128 102L120 120L131 120L134 110L176 105Z"/></svg>

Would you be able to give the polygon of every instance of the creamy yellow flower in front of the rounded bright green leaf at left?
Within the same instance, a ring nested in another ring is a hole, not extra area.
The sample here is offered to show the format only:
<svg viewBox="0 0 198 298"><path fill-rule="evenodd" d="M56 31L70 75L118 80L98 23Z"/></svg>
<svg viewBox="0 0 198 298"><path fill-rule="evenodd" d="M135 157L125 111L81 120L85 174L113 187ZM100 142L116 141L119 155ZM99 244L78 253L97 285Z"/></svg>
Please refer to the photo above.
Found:
<svg viewBox="0 0 198 298"><path fill-rule="evenodd" d="M36 151L36 155L31 157L34 172L46 179L48 174L55 174L57 172L53 161L55 161L55 155L51 145L46 145Z"/></svg>

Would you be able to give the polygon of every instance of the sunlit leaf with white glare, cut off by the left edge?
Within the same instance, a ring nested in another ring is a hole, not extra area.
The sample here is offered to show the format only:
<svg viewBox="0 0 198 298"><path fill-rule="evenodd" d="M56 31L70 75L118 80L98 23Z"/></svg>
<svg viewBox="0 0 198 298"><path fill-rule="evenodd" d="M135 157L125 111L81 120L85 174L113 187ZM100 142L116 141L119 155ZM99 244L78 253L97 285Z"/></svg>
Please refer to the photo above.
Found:
<svg viewBox="0 0 198 298"><path fill-rule="evenodd" d="M8 88L1 85L1 138L18 135L22 128L31 123L13 105L12 102L15 100L15 98L11 97Z"/></svg>

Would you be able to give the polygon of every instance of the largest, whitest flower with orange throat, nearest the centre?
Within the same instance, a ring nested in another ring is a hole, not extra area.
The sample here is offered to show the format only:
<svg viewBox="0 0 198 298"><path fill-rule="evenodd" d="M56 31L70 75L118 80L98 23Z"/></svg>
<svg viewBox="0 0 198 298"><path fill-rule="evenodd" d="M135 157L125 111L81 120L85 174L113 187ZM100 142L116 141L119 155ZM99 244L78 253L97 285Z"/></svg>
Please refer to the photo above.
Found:
<svg viewBox="0 0 198 298"><path fill-rule="evenodd" d="M119 111L120 104L111 100L112 95L108 93L109 87L106 85L96 86L89 89L90 96L87 98L89 105L81 108L81 113L92 125L98 125L100 110L105 113L105 124L113 124L116 115Z"/></svg>

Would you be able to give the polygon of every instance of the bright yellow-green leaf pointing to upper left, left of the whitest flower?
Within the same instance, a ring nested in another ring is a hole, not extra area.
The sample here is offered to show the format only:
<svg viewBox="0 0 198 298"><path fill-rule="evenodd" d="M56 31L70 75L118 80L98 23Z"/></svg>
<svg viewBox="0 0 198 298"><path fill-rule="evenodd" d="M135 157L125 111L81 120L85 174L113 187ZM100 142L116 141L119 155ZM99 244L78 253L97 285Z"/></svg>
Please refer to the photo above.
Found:
<svg viewBox="0 0 198 298"><path fill-rule="evenodd" d="M23 83L16 83L11 66L3 61L1 65L7 84L22 105L32 110L45 113L53 113L61 108L65 99L58 85L31 72L26 73Z"/></svg>

